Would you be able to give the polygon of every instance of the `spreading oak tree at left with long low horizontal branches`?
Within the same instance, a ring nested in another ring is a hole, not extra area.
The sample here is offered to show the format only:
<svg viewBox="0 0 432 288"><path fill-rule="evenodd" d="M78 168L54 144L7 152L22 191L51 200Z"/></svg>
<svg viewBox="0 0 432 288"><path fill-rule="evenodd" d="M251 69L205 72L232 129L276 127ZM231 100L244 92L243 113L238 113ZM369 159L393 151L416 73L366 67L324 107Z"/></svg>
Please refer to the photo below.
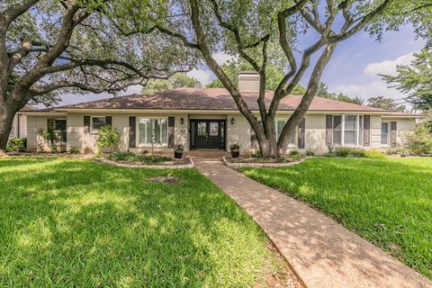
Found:
<svg viewBox="0 0 432 288"><path fill-rule="evenodd" d="M0 153L27 103L55 103L63 92L115 93L190 70L196 51L157 31L169 11L157 0L2 0ZM139 33L129 29L136 14Z"/></svg>

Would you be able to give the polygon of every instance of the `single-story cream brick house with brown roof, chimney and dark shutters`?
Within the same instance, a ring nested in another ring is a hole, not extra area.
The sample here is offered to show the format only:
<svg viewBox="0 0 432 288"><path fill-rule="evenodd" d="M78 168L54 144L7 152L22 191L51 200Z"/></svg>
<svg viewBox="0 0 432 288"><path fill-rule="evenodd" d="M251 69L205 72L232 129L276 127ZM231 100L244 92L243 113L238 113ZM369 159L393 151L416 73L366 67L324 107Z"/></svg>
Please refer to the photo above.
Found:
<svg viewBox="0 0 432 288"><path fill-rule="evenodd" d="M238 88L248 107L258 115L259 77L243 72ZM273 92L266 92L266 104ZM288 95L280 103L275 130L301 102L301 95ZM257 139L245 117L223 88L180 88L154 94L131 94L110 99L26 112L28 147L35 150L47 143L36 131L53 125L62 132L67 147L94 152L98 130L112 125L121 133L121 151L143 152L152 147L171 151L175 144L184 149L221 149L238 143L241 152L257 149ZM328 146L388 148L401 144L418 115L391 112L355 103L315 97L310 109L291 136L289 148L325 152Z"/></svg>

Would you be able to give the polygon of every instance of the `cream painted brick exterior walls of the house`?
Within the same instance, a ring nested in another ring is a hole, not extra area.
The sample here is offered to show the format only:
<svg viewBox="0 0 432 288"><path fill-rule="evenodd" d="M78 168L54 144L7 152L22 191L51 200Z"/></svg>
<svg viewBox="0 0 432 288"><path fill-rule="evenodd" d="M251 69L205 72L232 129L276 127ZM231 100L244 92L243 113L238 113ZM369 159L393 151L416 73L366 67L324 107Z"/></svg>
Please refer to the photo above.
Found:
<svg viewBox="0 0 432 288"><path fill-rule="evenodd" d="M129 117L156 117L167 118L169 116L175 117L175 144L183 144L184 150L189 150L189 124L190 119L225 119L226 120L226 148L229 150L229 145L238 143L242 153L250 152L251 148L251 127L246 118L241 114L212 114L212 115L198 115L198 114L143 114L143 113L68 113L67 114L67 148L76 146L83 153L96 152L97 133L84 132L84 116L112 116L112 125L121 133L121 142L119 149L121 151L143 152L144 150L150 151L151 146L137 148L129 148ZM288 119L290 115L278 115L277 119ZM47 128L48 116L26 116L26 133L28 138L28 148L35 151L37 148L42 147L46 150L49 149L48 143L40 136L37 135L37 130ZM65 117L58 117L64 119ZM181 118L184 122L181 123ZM324 114L311 114L306 117L306 130L305 130L305 149L311 148L316 153L325 153L327 151L326 145L326 115ZM231 123L234 119L234 124ZM414 119L396 119L385 117L382 119L380 115L371 116L371 147L370 148L383 148L381 145L381 123L382 121L397 121L398 131L397 140L402 144L404 135L413 129L416 121ZM24 127L23 127L24 130ZM296 136L297 141L297 136ZM137 143L138 144L138 143ZM290 147L295 149L296 147ZM363 147L365 148L365 147ZM172 148L167 145L162 147L155 147L156 151L171 153Z"/></svg>

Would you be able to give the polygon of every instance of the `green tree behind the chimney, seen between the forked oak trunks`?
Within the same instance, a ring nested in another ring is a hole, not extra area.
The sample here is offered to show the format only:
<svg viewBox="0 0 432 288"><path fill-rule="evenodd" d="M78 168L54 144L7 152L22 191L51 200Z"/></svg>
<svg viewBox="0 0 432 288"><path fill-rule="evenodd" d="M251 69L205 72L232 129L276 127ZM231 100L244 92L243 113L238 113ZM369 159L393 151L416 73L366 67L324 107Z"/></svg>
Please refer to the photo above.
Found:
<svg viewBox="0 0 432 288"><path fill-rule="evenodd" d="M253 70L250 64L241 59L230 60L223 64L221 68L223 72L229 76L229 79L234 85L238 85L238 72ZM281 70L274 65L268 65L266 69L266 89L274 91L283 77L284 73L281 72ZM223 85L219 79L214 79L210 84L206 85L206 87L223 88ZM293 89L293 94L304 94L305 92L306 88L302 85L296 85Z"/></svg>

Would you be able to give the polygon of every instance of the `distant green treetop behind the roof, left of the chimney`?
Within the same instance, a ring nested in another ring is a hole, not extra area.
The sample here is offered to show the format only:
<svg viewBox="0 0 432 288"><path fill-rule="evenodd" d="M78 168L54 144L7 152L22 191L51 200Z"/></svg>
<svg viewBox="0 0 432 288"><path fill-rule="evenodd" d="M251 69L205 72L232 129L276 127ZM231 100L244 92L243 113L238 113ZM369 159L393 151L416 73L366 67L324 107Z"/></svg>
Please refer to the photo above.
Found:
<svg viewBox="0 0 432 288"><path fill-rule="evenodd" d="M154 93L158 91L171 90L182 87L202 87L202 84L192 76L185 73L175 73L168 79L150 79L147 85L142 89L142 93Z"/></svg>

